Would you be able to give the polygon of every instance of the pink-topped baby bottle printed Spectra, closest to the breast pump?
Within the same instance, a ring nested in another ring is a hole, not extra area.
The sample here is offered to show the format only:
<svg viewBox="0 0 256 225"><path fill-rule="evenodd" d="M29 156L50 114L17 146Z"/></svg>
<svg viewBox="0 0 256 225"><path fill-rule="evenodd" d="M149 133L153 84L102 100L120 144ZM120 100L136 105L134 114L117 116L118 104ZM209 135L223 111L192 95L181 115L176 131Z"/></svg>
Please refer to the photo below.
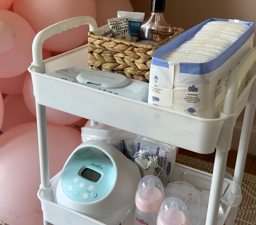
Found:
<svg viewBox="0 0 256 225"><path fill-rule="evenodd" d="M164 200L164 188L160 179L147 175L140 180L135 196L134 225L156 225L158 211Z"/></svg>

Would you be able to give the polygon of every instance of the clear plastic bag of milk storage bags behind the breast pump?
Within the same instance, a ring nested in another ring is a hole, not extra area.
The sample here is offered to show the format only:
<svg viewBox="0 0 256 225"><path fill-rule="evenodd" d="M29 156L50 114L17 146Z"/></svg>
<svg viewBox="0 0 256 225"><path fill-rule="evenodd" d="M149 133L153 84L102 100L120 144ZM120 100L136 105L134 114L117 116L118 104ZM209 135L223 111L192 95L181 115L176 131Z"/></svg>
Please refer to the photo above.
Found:
<svg viewBox="0 0 256 225"><path fill-rule="evenodd" d="M146 157L158 156L158 165L164 168L158 177L164 186L172 181L176 146L104 124L82 127L83 142L92 139L105 141L113 145L132 161L135 161L135 158L141 156L141 154ZM160 168L157 168L156 172L159 173L160 170Z"/></svg>

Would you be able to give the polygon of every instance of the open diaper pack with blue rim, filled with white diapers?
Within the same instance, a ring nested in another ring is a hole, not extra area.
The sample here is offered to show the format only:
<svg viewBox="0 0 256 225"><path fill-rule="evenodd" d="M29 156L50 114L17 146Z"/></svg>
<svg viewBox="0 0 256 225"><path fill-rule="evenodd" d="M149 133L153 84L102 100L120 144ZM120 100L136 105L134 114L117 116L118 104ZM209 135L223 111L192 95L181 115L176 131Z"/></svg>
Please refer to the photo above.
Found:
<svg viewBox="0 0 256 225"><path fill-rule="evenodd" d="M157 49L148 102L217 118L228 81L253 47L253 23L210 18ZM241 84L245 88L247 78Z"/></svg>

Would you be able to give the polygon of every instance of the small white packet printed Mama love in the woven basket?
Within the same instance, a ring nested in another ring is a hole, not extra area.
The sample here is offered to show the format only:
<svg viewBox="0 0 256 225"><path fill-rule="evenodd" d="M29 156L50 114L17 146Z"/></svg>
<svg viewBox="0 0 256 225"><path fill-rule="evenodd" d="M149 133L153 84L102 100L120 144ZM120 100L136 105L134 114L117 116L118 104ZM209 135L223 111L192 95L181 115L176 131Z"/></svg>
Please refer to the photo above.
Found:
<svg viewBox="0 0 256 225"><path fill-rule="evenodd" d="M108 24L114 38L131 41L128 19L126 16L108 19Z"/></svg>

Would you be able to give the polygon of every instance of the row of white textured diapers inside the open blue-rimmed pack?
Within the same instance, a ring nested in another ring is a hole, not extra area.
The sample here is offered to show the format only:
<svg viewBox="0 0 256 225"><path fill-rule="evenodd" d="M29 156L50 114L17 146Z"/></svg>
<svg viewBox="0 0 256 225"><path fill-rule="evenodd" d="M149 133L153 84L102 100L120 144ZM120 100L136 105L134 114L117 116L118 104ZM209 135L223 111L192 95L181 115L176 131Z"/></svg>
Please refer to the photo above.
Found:
<svg viewBox="0 0 256 225"><path fill-rule="evenodd" d="M248 25L241 23L209 22L163 59L172 63L205 63L219 56L248 29Z"/></svg>

